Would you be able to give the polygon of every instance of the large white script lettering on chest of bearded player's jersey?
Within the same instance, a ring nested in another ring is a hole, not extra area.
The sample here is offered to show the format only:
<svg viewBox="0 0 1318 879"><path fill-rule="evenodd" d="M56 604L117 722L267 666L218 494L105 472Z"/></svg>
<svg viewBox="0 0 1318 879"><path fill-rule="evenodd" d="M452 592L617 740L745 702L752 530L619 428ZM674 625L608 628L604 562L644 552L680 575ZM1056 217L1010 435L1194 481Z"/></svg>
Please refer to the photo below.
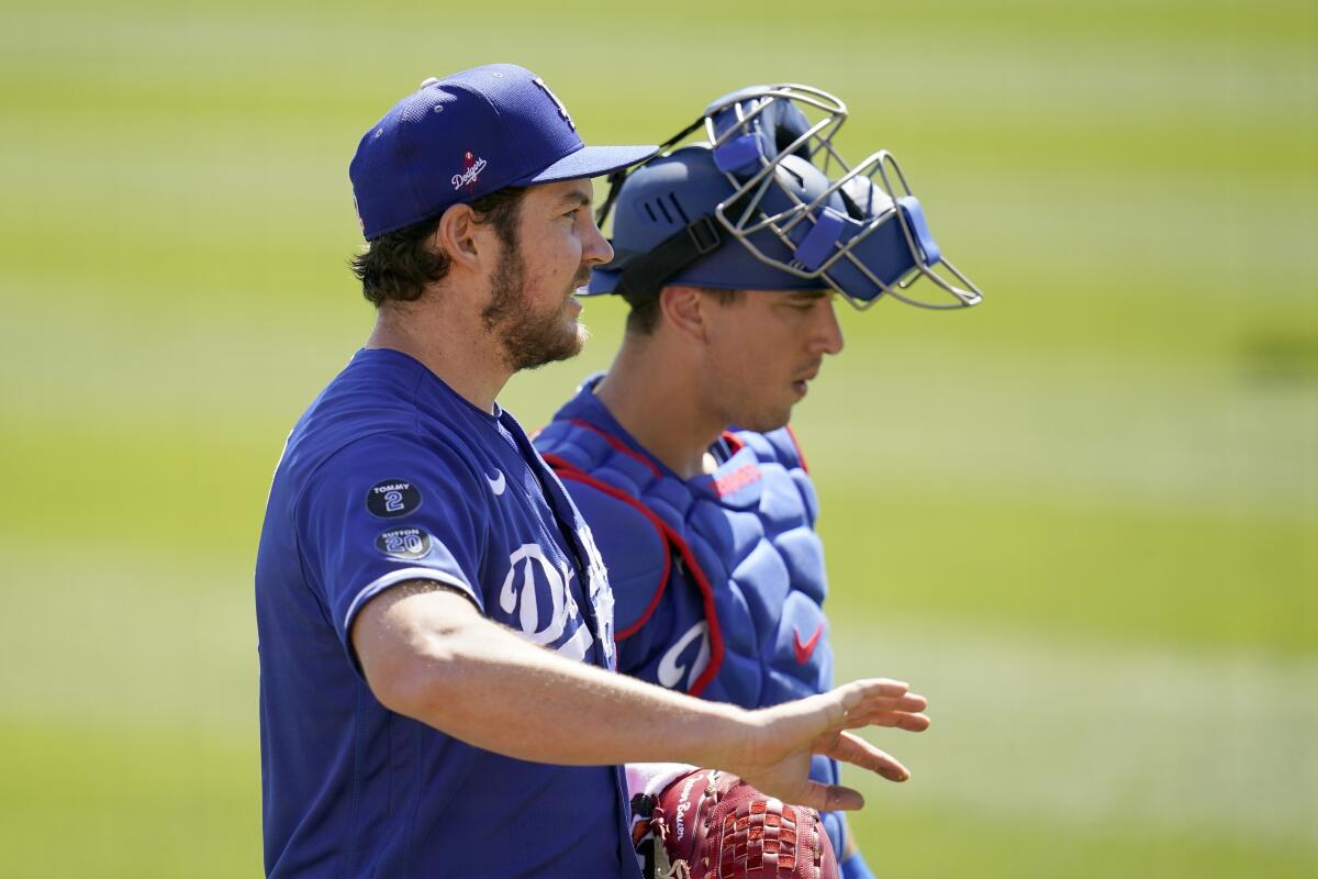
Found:
<svg viewBox="0 0 1318 879"><path fill-rule="evenodd" d="M572 565L555 564L536 543L523 543L507 563L507 576L498 593L500 610L509 617L506 622L532 643L569 659L585 659L594 639L572 597L571 584L576 576Z"/></svg>

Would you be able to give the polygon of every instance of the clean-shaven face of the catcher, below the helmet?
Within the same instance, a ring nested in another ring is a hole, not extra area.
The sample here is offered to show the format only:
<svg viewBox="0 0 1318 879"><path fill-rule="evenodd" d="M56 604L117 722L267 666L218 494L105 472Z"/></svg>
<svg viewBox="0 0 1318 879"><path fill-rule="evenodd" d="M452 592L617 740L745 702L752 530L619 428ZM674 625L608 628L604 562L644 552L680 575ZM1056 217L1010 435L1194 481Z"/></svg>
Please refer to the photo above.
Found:
<svg viewBox="0 0 1318 879"><path fill-rule="evenodd" d="M705 387L728 423L778 430L808 390L824 354L842 351L834 294L747 290L710 306Z"/></svg>

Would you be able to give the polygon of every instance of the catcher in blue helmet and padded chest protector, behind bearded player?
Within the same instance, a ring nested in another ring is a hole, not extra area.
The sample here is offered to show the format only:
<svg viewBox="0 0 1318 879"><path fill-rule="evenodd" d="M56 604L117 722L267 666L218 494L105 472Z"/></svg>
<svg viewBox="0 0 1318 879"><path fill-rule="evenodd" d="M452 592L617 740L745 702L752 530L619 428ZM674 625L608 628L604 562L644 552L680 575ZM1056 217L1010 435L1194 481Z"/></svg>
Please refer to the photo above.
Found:
<svg viewBox="0 0 1318 879"><path fill-rule="evenodd" d="M816 496L787 422L842 349L834 298L979 300L895 159L837 153L845 113L803 86L742 90L664 146L708 140L614 175L616 257L589 291L630 303L626 336L536 438L609 567L619 671L746 708L832 687ZM812 776L836 783L837 763ZM870 876L841 813L825 825L842 875Z"/></svg>

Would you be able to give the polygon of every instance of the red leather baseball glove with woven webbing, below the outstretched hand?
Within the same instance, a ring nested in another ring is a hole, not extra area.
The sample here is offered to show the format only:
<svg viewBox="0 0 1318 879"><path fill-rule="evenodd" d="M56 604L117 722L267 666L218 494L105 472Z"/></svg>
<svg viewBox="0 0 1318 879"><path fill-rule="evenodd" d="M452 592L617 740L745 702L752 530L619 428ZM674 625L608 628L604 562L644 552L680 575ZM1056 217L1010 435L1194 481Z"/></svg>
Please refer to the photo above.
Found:
<svg viewBox="0 0 1318 879"><path fill-rule="evenodd" d="M818 812L787 805L735 775L696 770L637 800L642 814L650 809L654 849L646 859L655 879L838 876Z"/></svg>

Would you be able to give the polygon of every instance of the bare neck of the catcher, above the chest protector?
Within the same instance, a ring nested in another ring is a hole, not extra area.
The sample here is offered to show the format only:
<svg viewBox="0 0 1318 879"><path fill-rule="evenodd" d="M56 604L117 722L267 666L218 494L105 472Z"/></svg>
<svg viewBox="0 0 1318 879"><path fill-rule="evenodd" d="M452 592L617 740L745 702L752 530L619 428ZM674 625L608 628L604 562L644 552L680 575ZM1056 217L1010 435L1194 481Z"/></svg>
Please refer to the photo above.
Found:
<svg viewBox="0 0 1318 879"><path fill-rule="evenodd" d="M701 395L695 362L652 337L627 336L594 391L638 443L684 480L705 472L705 453L728 427Z"/></svg>

